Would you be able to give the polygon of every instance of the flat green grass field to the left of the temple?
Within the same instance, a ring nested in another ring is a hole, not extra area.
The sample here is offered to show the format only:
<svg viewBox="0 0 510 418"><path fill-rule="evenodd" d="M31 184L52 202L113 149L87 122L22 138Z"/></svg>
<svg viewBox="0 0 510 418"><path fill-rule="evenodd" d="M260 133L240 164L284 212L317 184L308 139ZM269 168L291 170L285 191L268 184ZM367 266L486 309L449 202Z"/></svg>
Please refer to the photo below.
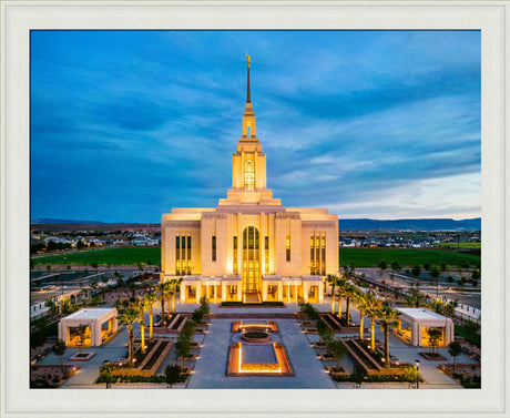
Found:
<svg viewBox="0 0 510 418"><path fill-rule="evenodd" d="M65 257L65 259L64 259ZM91 265L136 265L137 263L159 265L161 264L160 247L111 247L89 249L78 253L49 255L32 258L33 264L65 265L79 264Z"/></svg>

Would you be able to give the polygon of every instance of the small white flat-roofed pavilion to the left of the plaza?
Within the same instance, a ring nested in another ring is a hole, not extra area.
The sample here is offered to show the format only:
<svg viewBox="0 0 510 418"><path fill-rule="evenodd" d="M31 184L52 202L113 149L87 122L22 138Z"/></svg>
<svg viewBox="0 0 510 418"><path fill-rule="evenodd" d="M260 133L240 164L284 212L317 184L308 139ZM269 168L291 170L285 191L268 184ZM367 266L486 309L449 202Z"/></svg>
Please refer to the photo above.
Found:
<svg viewBox="0 0 510 418"><path fill-rule="evenodd" d="M85 325L90 329L90 345L100 346L103 339L102 325L108 323L106 333L115 333L118 330L116 308L84 308L71 315L65 316L59 322L59 339L62 339L65 345L71 344L71 328L78 328Z"/></svg>

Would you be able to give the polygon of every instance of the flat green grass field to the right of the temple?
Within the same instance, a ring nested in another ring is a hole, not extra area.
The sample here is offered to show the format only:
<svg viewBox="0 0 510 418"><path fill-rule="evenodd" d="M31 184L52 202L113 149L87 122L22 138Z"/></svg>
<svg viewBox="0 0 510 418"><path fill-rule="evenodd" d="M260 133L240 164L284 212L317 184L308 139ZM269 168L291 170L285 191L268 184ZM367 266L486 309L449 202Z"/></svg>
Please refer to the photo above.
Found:
<svg viewBox="0 0 510 418"><path fill-rule="evenodd" d="M388 266L398 262L401 266L422 266L446 264L457 266L469 263L480 265L479 255L453 253L447 249L421 249L421 248L340 248L340 266L354 262L355 267L377 267L381 261Z"/></svg>

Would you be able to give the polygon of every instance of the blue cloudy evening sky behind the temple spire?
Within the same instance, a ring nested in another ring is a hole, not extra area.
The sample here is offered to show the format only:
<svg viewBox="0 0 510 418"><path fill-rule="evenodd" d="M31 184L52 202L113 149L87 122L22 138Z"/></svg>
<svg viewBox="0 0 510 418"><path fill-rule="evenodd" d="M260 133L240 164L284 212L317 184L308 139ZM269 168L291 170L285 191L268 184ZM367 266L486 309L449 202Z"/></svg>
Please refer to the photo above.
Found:
<svg viewBox="0 0 510 418"><path fill-rule="evenodd" d="M33 31L31 218L157 223L216 206L245 51L285 206L480 216L479 31Z"/></svg>

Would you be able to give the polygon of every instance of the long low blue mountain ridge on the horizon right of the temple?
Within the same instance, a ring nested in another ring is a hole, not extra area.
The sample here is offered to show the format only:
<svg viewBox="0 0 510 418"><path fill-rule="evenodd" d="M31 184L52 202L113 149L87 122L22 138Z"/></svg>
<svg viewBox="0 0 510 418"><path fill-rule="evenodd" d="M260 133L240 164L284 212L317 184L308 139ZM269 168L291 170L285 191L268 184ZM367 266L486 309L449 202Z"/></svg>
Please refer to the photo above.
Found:
<svg viewBox="0 0 510 418"><path fill-rule="evenodd" d="M481 231L481 217L455 221L437 220L343 220L340 231Z"/></svg>

